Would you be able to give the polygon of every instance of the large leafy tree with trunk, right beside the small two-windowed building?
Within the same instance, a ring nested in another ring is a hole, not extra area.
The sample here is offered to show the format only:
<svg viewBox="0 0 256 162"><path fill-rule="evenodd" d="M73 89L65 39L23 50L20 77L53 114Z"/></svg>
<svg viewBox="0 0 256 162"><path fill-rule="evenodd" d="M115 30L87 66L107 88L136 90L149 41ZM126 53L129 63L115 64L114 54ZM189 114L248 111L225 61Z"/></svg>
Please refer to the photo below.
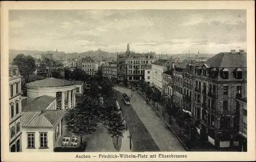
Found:
<svg viewBox="0 0 256 162"><path fill-rule="evenodd" d="M65 119L66 127L70 132L81 138L96 131L99 123L100 105L93 98L84 97L81 103L77 103L74 109L69 109Z"/></svg>

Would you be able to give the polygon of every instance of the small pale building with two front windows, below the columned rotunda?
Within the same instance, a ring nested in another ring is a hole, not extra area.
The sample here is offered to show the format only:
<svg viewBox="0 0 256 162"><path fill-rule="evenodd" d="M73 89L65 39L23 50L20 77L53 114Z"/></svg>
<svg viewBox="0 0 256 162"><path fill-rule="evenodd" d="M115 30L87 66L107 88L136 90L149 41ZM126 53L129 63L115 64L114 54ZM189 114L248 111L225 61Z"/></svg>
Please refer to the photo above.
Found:
<svg viewBox="0 0 256 162"><path fill-rule="evenodd" d="M66 110L56 109L56 97L36 97L22 110L22 150L24 152L53 152L60 143L63 116Z"/></svg>

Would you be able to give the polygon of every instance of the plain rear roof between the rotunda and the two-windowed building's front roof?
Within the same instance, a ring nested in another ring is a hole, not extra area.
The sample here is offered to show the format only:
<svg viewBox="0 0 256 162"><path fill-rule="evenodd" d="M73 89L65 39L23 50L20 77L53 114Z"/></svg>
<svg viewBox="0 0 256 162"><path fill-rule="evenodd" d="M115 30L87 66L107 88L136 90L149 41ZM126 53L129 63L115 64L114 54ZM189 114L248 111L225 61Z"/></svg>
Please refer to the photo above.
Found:
<svg viewBox="0 0 256 162"><path fill-rule="evenodd" d="M55 100L55 98L56 97L48 95L37 97L32 102L28 103L22 111L38 112L45 110Z"/></svg>

